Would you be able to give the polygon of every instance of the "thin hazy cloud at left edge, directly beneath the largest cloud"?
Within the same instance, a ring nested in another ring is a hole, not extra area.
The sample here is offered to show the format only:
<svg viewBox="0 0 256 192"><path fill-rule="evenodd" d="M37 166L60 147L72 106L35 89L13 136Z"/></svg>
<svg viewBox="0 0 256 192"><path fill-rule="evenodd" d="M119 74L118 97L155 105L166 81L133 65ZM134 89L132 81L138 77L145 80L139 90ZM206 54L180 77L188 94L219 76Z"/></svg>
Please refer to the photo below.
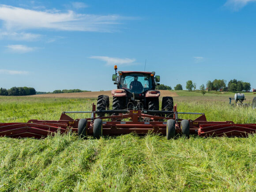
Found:
<svg viewBox="0 0 256 192"><path fill-rule="evenodd" d="M16 33L11 31L1 31L0 30L0 39L8 38L16 41L34 41L40 38L40 34L31 34L31 33Z"/></svg>

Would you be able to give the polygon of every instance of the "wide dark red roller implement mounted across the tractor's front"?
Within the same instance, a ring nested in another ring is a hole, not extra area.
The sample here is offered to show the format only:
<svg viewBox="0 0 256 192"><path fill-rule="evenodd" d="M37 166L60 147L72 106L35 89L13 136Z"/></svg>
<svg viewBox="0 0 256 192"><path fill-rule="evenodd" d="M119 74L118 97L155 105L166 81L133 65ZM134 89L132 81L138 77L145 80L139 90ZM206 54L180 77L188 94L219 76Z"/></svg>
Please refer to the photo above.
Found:
<svg viewBox="0 0 256 192"><path fill-rule="evenodd" d="M203 137L247 136L248 134L256 133L256 124L234 124L233 121L207 121L203 113L178 113L177 105L174 106L173 118L161 115L173 114L171 111L153 111L155 114L152 115L152 111L147 110L120 110L119 115L95 117L95 113L117 113L114 110L95 111L95 108L93 104L91 112L63 112L60 120L29 120L27 123L0 123L0 136L41 138L56 132L65 133L69 129L78 132L80 119L74 120L66 113L92 113L91 118L83 120L87 122L87 125L84 125L84 129L88 135L95 135L94 121L96 119L102 119L102 121L100 120L101 135L120 135L131 132L146 134L149 131L167 135L170 134L167 131L167 126L170 126L169 123L173 123L173 134L185 134L186 136L189 136L189 134ZM178 118L179 114L201 114L201 116L195 120L183 120ZM185 125L187 126L187 131L184 130ZM171 131L169 128L168 130Z"/></svg>

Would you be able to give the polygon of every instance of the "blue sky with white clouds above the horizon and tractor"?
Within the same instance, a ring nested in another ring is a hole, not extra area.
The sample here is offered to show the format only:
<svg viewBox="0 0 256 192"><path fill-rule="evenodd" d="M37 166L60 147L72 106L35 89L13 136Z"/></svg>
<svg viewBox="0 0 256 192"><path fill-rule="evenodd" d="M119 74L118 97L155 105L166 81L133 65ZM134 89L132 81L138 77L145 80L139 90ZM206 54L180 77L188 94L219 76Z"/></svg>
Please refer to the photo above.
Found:
<svg viewBox="0 0 256 192"><path fill-rule="evenodd" d="M0 87L111 90L118 70L256 88L256 0L0 0Z"/></svg>

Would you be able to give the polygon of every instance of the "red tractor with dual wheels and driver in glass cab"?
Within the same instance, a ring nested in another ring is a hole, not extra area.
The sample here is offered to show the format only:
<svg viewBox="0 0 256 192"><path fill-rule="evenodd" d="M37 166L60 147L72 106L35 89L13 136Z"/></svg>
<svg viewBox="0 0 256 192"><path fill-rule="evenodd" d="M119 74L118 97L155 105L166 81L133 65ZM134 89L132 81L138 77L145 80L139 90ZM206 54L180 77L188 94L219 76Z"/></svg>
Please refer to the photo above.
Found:
<svg viewBox="0 0 256 192"><path fill-rule="evenodd" d="M159 110L160 91L155 90L155 87L159 85L158 82L160 82L159 75L155 75L155 72L124 71L119 71L119 75L117 75L117 65L115 65L114 69L116 74L113 74L112 80L117 85L117 89L111 91L113 95L113 110ZM97 111L108 109L109 96L99 95ZM162 110L173 111L172 97L162 98ZM104 115L98 113L99 117Z"/></svg>

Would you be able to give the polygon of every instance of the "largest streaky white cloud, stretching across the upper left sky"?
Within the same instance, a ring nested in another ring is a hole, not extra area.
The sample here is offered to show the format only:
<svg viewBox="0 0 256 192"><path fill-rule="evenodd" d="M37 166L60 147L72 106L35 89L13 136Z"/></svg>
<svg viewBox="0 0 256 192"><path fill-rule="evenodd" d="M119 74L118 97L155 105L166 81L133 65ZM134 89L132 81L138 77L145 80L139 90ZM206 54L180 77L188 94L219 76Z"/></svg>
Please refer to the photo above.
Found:
<svg viewBox="0 0 256 192"><path fill-rule="evenodd" d="M68 31L112 32L121 20L134 19L120 15L77 14L74 11L38 11L0 4L0 20L7 30L54 29Z"/></svg>

